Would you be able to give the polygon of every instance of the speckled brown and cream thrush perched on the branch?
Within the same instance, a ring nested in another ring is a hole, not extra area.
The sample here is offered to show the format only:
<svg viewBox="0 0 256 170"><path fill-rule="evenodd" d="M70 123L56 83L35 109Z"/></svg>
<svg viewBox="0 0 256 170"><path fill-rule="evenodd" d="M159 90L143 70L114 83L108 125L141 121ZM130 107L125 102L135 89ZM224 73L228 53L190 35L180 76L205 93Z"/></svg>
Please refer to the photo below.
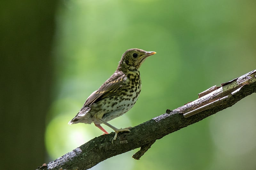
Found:
<svg viewBox="0 0 256 170"><path fill-rule="evenodd" d="M154 54L156 52L138 48L125 51L114 74L98 90L92 92L68 124L93 122L104 134L108 134L100 125L103 123L115 131L112 144L119 132L130 132L131 127L118 129L108 121L124 115L133 107L141 91L140 66L148 56Z"/></svg>

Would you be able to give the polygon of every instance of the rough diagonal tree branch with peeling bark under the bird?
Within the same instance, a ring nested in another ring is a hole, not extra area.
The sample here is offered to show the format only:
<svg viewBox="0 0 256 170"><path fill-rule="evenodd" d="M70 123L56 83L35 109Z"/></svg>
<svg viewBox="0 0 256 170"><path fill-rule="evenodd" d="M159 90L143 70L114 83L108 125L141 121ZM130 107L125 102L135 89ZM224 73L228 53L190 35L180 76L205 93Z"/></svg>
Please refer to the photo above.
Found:
<svg viewBox="0 0 256 170"><path fill-rule="evenodd" d="M221 86L213 86L198 94L199 98L175 110L167 109L163 115L131 128L130 133L118 133L114 144L114 132L95 137L62 157L38 167L38 170L89 169L110 157L141 148L134 159L147 152L151 145L162 137L196 123L256 92L256 70Z"/></svg>

